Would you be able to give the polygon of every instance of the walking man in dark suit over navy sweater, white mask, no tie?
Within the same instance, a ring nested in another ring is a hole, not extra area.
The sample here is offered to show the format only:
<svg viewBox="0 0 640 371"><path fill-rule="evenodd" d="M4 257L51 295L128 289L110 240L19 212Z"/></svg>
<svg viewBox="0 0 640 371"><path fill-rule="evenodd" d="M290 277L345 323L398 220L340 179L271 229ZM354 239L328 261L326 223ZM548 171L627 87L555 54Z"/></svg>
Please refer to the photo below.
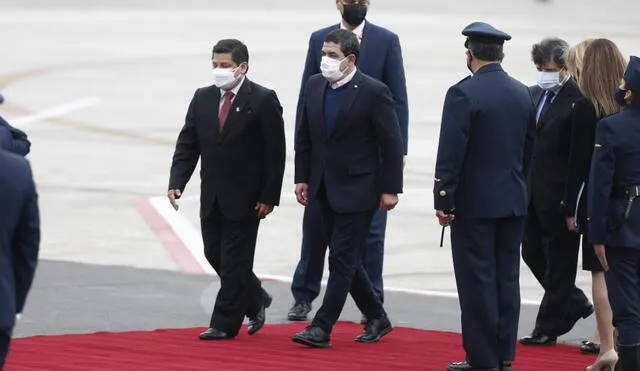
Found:
<svg viewBox="0 0 640 371"><path fill-rule="evenodd" d="M356 68L360 47L347 30L331 31L322 74L309 78L296 135L296 198L317 207L329 245L329 282L311 326L293 341L329 347L330 333L351 293L366 315L358 342L376 342L391 322L362 265L376 209L391 210L402 193L402 138L389 89Z"/></svg>

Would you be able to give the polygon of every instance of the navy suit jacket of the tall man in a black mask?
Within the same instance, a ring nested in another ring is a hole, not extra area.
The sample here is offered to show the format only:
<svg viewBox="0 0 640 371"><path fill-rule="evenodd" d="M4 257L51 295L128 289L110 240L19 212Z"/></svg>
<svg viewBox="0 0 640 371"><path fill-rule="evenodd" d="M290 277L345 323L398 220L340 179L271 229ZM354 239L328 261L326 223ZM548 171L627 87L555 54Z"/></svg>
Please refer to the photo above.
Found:
<svg viewBox="0 0 640 371"><path fill-rule="evenodd" d="M309 77L320 73L324 39L329 32L338 28L340 28L339 24L323 28L312 33L309 38L309 50L307 51L307 60L302 74L296 112L296 132L300 126L305 84ZM389 87L393 96L394 108L400 124L404 154L406 155L409 143L409 106L407 103L407 83L404 76L402 50L398 35L367 21L362 32L360 57L357 59L356 65L362 73L383 82Z"/></svg>

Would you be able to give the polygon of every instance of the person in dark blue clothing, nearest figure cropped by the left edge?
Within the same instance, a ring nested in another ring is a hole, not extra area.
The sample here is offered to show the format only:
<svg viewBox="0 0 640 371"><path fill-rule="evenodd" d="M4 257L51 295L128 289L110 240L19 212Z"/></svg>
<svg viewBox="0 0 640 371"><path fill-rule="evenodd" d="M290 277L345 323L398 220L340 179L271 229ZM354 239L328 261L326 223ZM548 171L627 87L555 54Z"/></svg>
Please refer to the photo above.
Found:
<svg viewBox="0 0 640 371"><path fill-rule="evenodd" d="M38 195L29 162L0 149L0 370L31 288L40 248Z"/></svg>

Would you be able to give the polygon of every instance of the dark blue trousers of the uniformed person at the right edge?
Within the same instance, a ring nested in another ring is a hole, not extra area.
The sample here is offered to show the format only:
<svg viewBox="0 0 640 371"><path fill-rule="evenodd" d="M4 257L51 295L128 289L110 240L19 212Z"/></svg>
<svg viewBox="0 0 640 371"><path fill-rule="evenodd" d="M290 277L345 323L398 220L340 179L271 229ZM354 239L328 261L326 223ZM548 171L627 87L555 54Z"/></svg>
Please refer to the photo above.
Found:
<svg viewBox="0 0 640 371"><path fill-rule="evenodd" d="M640 346L640 250L607 246L606 254L605 277L618 343Z"/></svg>

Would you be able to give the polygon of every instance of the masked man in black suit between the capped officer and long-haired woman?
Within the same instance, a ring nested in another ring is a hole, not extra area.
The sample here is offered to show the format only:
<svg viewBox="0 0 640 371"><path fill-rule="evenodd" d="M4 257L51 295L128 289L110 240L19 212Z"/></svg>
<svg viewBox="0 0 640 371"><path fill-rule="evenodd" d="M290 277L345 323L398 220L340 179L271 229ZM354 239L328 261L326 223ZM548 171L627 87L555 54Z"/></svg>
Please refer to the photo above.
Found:
<svg viewBox="0 0 640 371"><path fill-rule="evenodd" d="M576 287L580 235L569 231L562 200L571 149L571 111L582 98L567 72L561 39L533 46L538 85L531 89L536 111L536 141L531 161L531 198L522 245L522 258L545 289L536 323L524 345L554 345L593 306Z"/></svg>

